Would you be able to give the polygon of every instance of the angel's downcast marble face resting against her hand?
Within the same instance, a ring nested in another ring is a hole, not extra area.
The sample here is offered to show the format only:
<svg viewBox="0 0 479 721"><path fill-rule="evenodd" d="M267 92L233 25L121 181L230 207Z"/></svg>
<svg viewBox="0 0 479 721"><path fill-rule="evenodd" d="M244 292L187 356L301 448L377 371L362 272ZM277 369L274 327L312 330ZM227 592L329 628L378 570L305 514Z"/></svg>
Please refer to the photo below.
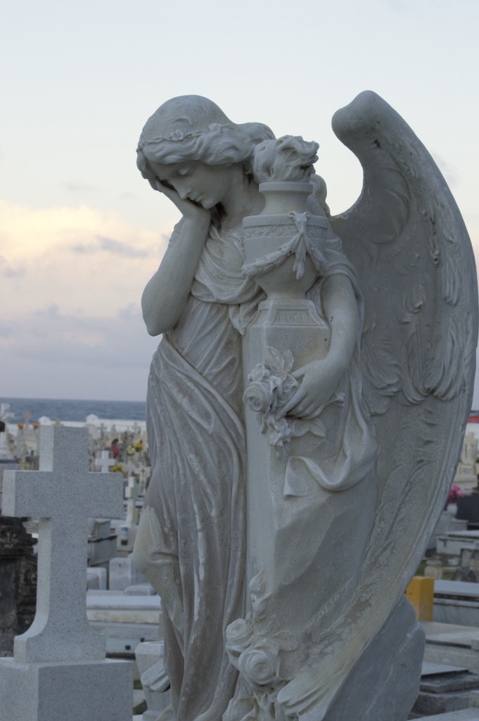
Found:
<svg viewBox="0 0 479 721"><path fill-rule="evenodd" d="M150 162L158 180L172 185L183 200L189 198L203 208L213 208L228 194L233 166L206 165L197 160L162 164Z"/></svg>

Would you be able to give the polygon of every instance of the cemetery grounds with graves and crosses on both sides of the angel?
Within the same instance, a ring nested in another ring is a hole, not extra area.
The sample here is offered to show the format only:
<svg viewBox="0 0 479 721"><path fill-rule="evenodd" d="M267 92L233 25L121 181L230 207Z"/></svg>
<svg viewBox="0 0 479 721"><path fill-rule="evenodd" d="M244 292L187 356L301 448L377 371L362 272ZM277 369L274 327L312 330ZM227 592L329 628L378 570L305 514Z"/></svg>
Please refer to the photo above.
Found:
<svg viewBox="0 0 479 721"><path fill-rule="evenodd" d="M27 413L12 423L8 404L0 406L0 721L57 719L22 691L42 686L55 697L51 669L61 669L65 694L84 689L71 721L156 721L169 704L161 602L131 556L151 473L146 424L39 420ZM454 712L451 719L468 720L475 717L466 709L479 706L478 421L470 417L448 503L407 590L426 631L411 718Z"/></svg>

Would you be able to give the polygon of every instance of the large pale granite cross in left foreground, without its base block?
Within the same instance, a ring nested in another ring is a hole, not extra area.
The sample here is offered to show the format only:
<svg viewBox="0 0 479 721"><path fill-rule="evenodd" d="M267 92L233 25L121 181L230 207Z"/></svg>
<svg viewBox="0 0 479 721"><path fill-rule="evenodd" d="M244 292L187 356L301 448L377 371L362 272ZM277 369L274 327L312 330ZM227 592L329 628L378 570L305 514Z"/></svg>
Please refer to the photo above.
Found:
<svg viewBox="0 0 479 721"><path fill-rule="evenodd" d="M4 515L40 519L37 614L15 638L17 661L104 658L105 638L86 618L88 519L122 516L123 483L88 466L88 430L44 426L40 469L5 474Z"/></svg>

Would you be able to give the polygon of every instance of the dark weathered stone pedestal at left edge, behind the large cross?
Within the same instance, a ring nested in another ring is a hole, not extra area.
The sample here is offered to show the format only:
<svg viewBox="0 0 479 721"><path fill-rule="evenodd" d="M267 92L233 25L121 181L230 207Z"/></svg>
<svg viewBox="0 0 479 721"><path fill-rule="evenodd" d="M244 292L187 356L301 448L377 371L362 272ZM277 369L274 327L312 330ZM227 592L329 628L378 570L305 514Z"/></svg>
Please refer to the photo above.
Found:
<svg viewBox="0 0 479 721"><path fill-rule="evenodd" d="M35 543L19 518L0 516L0 656L13 655L14 637L24 633L35 617Z"/></svg>

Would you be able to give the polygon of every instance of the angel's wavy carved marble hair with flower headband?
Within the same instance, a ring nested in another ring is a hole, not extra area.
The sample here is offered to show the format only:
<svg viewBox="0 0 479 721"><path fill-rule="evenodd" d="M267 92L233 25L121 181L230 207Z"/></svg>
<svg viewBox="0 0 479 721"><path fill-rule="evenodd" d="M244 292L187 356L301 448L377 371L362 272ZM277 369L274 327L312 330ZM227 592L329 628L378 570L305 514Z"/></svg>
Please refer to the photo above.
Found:
<svg viewBox="0 0 479 721"><path fill-rule="evenodd" d="M274 135L267 125L237 125L211 100L182 95L165 102L147 120L138 142L137 165L154 190L156 175L149 162L241 163L249 174L255 147L269 138Z"/></svg>

